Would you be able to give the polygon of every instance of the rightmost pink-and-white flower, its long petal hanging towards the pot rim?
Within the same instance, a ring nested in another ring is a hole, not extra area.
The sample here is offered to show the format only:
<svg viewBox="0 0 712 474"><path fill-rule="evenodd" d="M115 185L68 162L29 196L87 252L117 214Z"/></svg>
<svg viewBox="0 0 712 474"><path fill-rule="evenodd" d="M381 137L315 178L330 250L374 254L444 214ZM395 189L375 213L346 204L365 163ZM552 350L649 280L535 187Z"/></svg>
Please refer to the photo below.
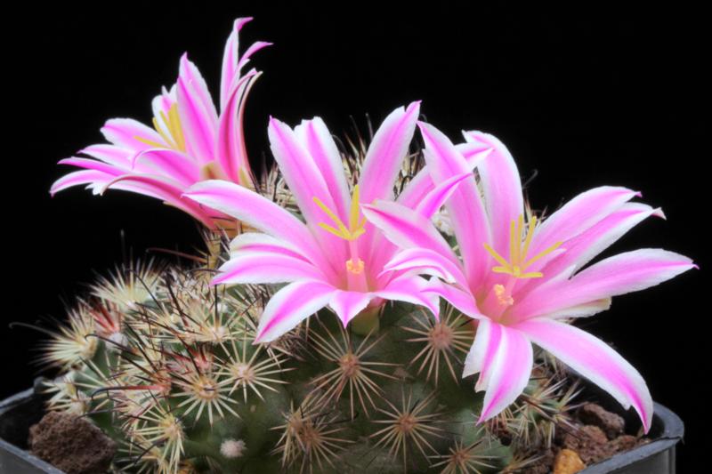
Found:
<svg viewBox="0 0 712 474"><path fill-rule="evenodd" d="M431 125L419 126L435 183L470 169L447 137ZM467 132L465 139L489 150L477 167L480 188L471 175L445 204L460 256L425 217L397 203L378 202L363 206L363 213L404 249L384 268L438 277L427 291L477 319L463 376L480 374L476 390L486 390L481 421L501 412L524 390L533 342L621 405L634 406L647 431L652 399L643 377L603 341L567 319L608 309L611 296L657 285L695 265L677 253L640 249L584 268L638 222L663 217L661 211L629 202L640 196L635 191L601 187L539 221L527 213L519 173L505 146L485 133Z"/></svg>

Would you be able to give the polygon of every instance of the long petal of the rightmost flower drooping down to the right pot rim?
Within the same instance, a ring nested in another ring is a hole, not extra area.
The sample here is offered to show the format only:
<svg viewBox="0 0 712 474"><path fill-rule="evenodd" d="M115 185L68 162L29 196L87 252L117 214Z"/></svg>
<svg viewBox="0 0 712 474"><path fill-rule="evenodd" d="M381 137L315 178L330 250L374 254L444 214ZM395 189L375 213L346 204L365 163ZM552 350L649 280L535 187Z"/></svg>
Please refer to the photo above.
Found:
<svg viewBox="0 0 712 474"><path fill-rule="evenodd" d="M652 421L652 398L643 377L603 341L577 327L548 319L530 319L517 329L578 374L606 390L640 415L645 432Z"/></svg>

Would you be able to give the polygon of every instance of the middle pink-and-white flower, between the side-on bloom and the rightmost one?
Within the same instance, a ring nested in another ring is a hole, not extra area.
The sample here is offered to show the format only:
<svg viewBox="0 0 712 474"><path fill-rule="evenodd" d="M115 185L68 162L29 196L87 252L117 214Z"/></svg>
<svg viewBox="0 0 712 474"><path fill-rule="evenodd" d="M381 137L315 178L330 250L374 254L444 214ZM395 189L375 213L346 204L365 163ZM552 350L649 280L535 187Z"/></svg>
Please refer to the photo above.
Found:
<svg viewBox="0 0 712 474"><path fill-rule="evenodd" d="M384 300L413 302L437 314L438 298L424 293L424 278L383 273L397 248L360 215L361 203L393 199L393 185L408 153L418 111L416 102L385 118L352 192L342 157L320 118L305 120L294 130L272 118L272 153L304 222L269 199L226 181L201 182L186 193L264 232L232 241L231 260L214 284L288 283L266 305L255 341L272 341L326 306L344 325ZM415 187L401 194L401 205L417 207L418 215L428 219L457 181L470 174L434 187L430 180L418 184L424 181L423 173L414 180Z"/></svg>

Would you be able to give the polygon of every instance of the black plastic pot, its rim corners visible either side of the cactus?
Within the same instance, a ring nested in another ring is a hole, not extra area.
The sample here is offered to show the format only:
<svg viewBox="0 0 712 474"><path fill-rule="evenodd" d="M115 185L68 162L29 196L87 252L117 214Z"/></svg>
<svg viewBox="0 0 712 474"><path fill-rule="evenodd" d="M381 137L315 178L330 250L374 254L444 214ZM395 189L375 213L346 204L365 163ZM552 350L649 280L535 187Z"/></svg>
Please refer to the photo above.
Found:
<svg viewBox="0 0 712 474"><path fill-rule="evenodd" d="M24 449L27 447L29 427L38 422L43 414L43 400L33 389L0 402L0 473L63 474ZM683 434L682 420L656 403L650 443L589 466L581 474L675 474L675 446Z"/></svg>

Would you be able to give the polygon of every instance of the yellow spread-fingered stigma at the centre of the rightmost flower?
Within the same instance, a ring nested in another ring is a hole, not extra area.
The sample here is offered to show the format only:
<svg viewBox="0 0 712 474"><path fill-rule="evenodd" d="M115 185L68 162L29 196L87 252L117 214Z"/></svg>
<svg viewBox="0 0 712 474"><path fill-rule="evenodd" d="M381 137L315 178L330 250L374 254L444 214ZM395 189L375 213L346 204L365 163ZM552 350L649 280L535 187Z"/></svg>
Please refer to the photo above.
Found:
<svg viewBox="0 0 712 474"><path fill-rule="evenodd" d="M512 275L515 278L540 278L544 277L544 274L540 271L526 272L526 269L531 266L532 263L538 261L549 253L554 252L561 242L557 242L550 246L543 252L539 252L532 258L527 260L527 253L529 253L529 248L531 245L531 238L534 237L534 229L537 225L537 217L534 216L529 221L527 226L527 233L522 239L522 230L524 229L524 216L520 215L517 221L512 221L509 228L509 258L507 261L502 255L500 255L494 248L488 244L484 244L485 250L492 255L492 258L498 261L499 265L493 267L492 271L495 273L506 273ZM522 244L523 240L523 244ZM497 291L497 288L495 288Z"/></svg>

